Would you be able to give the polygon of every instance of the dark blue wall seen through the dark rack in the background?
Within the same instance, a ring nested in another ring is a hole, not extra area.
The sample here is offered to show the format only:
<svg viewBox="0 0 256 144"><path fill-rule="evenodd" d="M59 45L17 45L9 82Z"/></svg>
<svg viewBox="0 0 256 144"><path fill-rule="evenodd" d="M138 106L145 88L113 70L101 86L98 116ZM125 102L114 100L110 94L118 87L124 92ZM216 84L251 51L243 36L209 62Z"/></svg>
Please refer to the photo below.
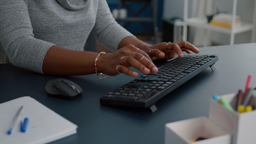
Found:
<svg viewBox="0 0 256 144"><path fill-rule="evenodd" d="M107 3L109 4L109 8L112 11L113 9L117 8L118 0L107 0ZM140 10L140 8L143 7L144 3L142 3L142 2L130 2L128 5L135 12L138 12ZM158 31L162 30L162 24L161 24L162 14L163 14L163 0L158 0L158 16L157 16L157 25L158 25L158 28L159 28ZM129 16L132 16L132 14L130 14L128 12L128 17ZM151 17L152 16L151 6L147 7L147 9L145 9L144 12L142 12L142 14L140 14L140 16L142 16L142 17ZM151 23L147 23L147 26L149 26L149 28L152 28ZM139 22L131 23L127 27L127 30L129 30L131 33L135 33L135 34L146 34L147 33L147 30Z"/></svg>

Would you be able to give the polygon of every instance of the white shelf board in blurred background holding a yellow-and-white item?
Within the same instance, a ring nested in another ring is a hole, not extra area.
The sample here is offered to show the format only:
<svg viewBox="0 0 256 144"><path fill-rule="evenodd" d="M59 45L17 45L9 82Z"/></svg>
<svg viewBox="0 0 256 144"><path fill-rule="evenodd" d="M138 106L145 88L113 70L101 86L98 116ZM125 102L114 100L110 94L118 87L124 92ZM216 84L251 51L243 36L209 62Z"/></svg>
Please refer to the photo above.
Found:
<svg viewBox="0 0 256 144"><path fill-rule="evenodd" d="M220 26L209 25L209 23L207 23L207 19L189 18L189 19L187 19L186 24L187 24L187 26L212 30L212 31L220 32L220 33L231 34L230 28L223 28ZM250 30L253 30L253 25L251 23L242 22L241 26L235 27L234 34L243 33L243 32L250 31Z"/></svg>

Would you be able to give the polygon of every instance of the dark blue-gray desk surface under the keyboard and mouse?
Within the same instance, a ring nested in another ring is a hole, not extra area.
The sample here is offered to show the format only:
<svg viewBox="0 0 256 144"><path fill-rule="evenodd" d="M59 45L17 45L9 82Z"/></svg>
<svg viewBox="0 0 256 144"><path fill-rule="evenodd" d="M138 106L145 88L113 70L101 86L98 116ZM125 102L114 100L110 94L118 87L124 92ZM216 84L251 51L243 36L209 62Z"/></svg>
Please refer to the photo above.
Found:
<svg viewBox="0 0 256 144"><path fill-rule="evenodd" d="M165 123L207 116L214 94L244 89L247 75L256 86L256 44L200 48L202 54L217 54L216 70L207 68L156 103L154 113L145 109L106 107L100 97L132 80L120 74L99 80L95 74L62 77L84 89L81 97L61 100L47 96L44 84L57 76L37 74L10 64L0 65L0 103L29 95L78 125L77 134L53 144L163 144Z"/></svg>

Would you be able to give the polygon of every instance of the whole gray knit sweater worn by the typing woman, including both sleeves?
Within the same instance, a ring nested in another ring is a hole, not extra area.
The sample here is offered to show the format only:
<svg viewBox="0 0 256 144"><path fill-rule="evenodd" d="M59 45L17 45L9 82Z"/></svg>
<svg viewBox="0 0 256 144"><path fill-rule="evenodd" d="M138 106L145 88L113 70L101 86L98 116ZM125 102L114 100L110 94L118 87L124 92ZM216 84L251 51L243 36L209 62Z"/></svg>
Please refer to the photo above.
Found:
<svg viewBox="0 0 256 144"><path fill-rule="evenodd" d="M91 31L112 50L132 35L105 0L0 0L0 63L42 73L49 47L83 51Z"/></svg>

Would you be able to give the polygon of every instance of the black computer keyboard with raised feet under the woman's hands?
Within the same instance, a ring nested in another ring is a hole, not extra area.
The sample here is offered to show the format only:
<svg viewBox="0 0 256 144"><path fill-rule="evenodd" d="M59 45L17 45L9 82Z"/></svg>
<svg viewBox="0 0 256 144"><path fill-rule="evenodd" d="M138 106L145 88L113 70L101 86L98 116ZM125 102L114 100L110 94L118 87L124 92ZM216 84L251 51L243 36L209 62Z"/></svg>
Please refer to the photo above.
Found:
<svg viewBox="0 0 256 144"><path fill-rule="evenodd" d="M202 72L207 67L214 70L216 55L186 55L158 67L157 74L145 74L100 98L102 105L150 108L175 88Z"/></svg>

